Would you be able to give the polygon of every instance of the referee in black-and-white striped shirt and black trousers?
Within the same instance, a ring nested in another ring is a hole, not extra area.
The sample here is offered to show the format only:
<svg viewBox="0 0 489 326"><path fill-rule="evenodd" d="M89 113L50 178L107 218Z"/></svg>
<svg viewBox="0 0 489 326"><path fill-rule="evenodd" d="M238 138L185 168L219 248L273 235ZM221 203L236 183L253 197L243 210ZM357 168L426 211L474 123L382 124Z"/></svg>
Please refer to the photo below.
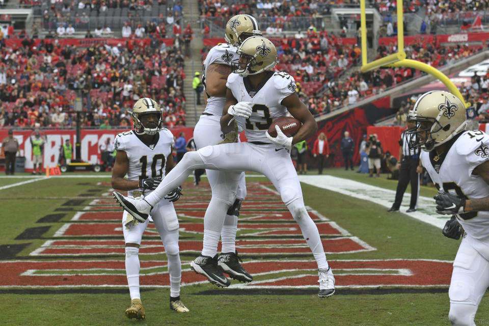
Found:
<svg viewBox="0 0 489 326"><path fill-rule="evenodd" d="M419 197L419 174L423 172L423 168L420 166L419 153L420 149L410 149L408 144L408 135L406 131L416 127L414 121L406 121L406 130L401 133L401 139L399 140L399 182L397 183L396 199L390 212L398 212L401 206L402 197L404 192L411 182L411 202L409 209L406 213L414 212L417 210L418 197Z"/></svg>

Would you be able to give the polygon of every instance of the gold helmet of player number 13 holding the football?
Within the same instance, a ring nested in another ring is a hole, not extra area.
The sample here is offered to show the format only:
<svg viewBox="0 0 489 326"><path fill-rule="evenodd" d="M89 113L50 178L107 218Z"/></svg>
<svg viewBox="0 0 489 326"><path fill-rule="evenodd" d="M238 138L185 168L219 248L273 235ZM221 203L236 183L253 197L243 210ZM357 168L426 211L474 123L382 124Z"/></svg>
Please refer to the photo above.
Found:
<svg viewBox="0 0 489 326"><path fill-rule="evenodd" d="M247 38L236 53L239 59L233 60L233 72L242 77L256 75L277 64L277 49L274 43L263 36Z"/></svg>

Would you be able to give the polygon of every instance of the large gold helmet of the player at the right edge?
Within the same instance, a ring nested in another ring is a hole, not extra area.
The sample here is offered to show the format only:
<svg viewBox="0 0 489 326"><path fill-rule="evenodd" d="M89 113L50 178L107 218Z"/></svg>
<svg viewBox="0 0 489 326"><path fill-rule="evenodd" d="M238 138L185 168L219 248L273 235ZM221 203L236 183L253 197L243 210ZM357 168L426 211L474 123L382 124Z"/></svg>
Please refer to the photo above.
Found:
<svg viewBox="0 0 489 326"><path fill-rule="evenodd" d="M418 98L408 120L416 122L416 128L408 131L415 135L410 137L409 147L429 152L465 130L466 107L449 92L431 91Z"/></svg>

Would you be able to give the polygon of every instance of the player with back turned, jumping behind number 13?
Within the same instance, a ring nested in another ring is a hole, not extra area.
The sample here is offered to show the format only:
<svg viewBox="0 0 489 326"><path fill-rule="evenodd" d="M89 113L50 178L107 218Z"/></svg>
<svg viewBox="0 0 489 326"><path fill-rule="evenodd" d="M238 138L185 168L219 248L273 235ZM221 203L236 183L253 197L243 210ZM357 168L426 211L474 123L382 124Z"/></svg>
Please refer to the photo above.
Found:
<svg viewBox="0 0 489 326"><path fill-rule="evenodd" d="M238 57L236 46L254 35L261 35L254 17L242 14L231 17L226 24L227 44L218 44L207 54L202 72L207 102L194 129L197 149L221 142L238 141L237 130L227 137L221 131L220 120L226 103L226 80L232 71L233 60ZM223 271L233 279L251 282L253 277L239 263L235 247L239 210L246 197L244 172L207 169L206 174L212 197L204 215L203 249L197 258L198 266L195 271L218 285L229 285ZM218 258L220 237L222 251Z"/></svg>

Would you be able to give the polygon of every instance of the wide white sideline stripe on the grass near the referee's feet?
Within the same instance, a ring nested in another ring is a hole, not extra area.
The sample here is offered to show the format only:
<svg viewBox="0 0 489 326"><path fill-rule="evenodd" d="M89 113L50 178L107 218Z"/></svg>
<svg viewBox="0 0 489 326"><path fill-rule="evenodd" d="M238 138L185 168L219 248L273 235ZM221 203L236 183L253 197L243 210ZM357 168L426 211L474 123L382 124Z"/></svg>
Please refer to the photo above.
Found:
<svg viewBox="0 0 489 326"><path fill-rule="evenodd" d="M299 180L318 188L328 189L332 192L368 200L386 208L391 208L396 195L396 192L390 189L384 189L370 184L330 175L301 175L299 176ZM402 201L404 203L409 203L410 199L411 194L405 193ZM402 213L407 209L409 209L409 205L401 205L400 207ZM436 213L436 204L432 198L421 196L418 199L418 210L412 213L406 213L406 215L438 228L443 228L445 222L449 219L447 215L442 216Z"/></svg>

